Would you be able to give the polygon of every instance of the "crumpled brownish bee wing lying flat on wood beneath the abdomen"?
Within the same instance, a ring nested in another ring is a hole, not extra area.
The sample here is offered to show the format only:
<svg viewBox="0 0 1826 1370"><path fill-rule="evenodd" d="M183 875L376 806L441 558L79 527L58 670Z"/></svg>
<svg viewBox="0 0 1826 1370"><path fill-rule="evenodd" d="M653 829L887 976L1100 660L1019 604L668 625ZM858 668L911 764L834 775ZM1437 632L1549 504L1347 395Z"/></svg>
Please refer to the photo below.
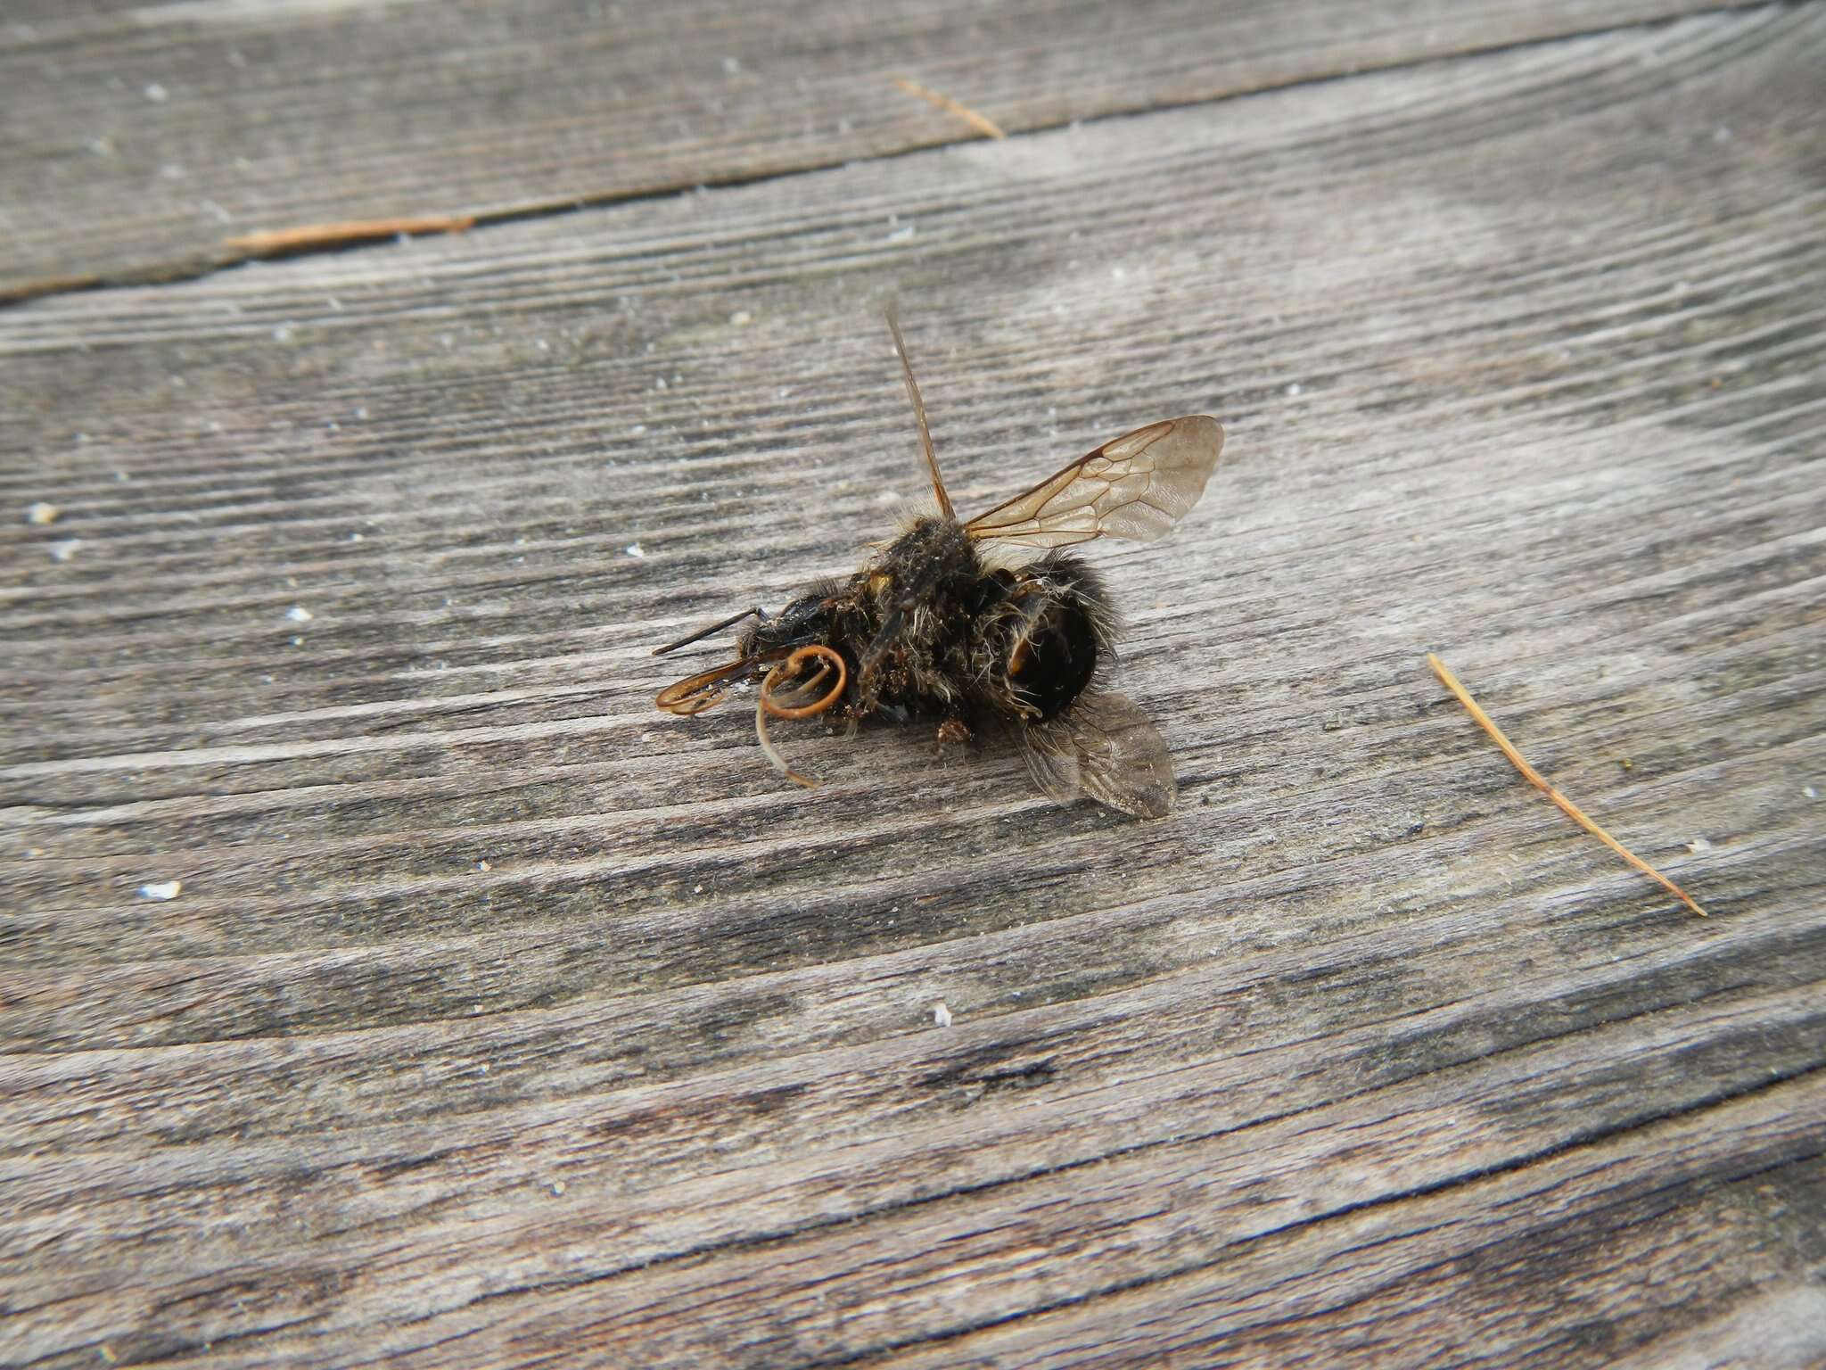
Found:
<svg viewBox="0 0 1826 1370"><path fill-rule="evenodd" d="M1178 784L1167 742L1121 694L1081 694L1057 718L1023 729L1028 775L1046 798L1090 795L1136 818L1172 813Z"/></svg>

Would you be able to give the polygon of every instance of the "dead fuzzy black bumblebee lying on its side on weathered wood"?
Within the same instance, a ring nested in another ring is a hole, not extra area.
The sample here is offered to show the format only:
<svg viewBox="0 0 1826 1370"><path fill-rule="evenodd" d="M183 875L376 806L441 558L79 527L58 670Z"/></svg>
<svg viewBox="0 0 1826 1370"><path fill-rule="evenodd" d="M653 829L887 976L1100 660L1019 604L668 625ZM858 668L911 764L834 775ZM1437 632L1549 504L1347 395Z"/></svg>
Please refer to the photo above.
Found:
<svg viewBox="0 0 1826 1370"><path fill-rule="evenodd" d="M1024 495L959 522L939 479L926 407L900 325L887 327L918 418L939 513L918 517L847 581L809 586L780 614L747 608L654 652L745 617L736 659L668 685L657 705L699 714L732 683L758 680L754 731L791 780L767 720L939 720L939 740L986 723L1012 729L1050 798L1090 795L1141 818L1172 809L1167 743L1121 694L1092 689L1118 619L1101 577L1059 548L1094 537L1147 543L1198 502L1223 449L1209 415L1138 427L1079 457ZM1028 559L1021 559L1021 550ZM1010 555L1015 553L1015 555Z"/></svg>

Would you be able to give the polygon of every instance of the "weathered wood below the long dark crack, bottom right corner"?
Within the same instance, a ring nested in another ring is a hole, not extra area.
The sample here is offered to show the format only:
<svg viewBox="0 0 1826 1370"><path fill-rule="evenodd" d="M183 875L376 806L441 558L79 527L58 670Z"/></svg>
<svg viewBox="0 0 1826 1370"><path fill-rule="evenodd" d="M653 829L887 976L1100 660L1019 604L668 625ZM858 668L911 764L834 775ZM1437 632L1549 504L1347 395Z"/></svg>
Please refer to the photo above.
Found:
<svg viewBox="0 0 1826 1370"><path fill-rule="evenodd" d="M1101 1308L1065 1306L900 1363L1815 1365L1826 1299L1797 1268L1817 1253L1826 1176L1804 1134L1819 1112L1795 1111L1797 1098L1817 1103L1819 1091L1775 1087L1455 1195L1289 1224L1234 1260L1187 1262ZM1711 1169L1733 1149L1720 1123L1742 1129L1727 1171L1742 1178ZM1737 1171L1749 1156L1766 1167ZM1620 1284L1634 1297L1618 1299Z"/></svg>

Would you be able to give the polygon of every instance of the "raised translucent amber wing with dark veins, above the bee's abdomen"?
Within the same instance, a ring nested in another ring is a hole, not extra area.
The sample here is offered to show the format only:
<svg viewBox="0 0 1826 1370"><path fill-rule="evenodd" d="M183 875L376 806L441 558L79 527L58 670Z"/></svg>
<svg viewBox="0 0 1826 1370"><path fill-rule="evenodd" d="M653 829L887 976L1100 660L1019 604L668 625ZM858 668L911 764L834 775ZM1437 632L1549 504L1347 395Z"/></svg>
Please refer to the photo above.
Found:
<svg viewBox="0 0 1826 1370"><path fill-rule="evenodd" d="M1152 543L1198 502L1223 451L1211 415L1163 418L1105 442L964 528L975 539L1052 548L1092 537Z"/></svg>

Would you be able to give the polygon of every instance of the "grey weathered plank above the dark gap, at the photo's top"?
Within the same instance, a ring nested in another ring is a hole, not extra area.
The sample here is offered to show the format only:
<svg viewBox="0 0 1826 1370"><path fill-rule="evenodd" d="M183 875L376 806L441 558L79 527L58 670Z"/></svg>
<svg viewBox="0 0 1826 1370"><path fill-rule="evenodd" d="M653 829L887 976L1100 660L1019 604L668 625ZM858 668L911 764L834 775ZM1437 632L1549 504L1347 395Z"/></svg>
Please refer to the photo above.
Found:
<svg viewBox="0 0 1826 1370"><path fill-rule="evenodd" d="M245 259L232 239L515 217L1211 100L1716 0L170 0L9 5L0 300Z"/></svg>

